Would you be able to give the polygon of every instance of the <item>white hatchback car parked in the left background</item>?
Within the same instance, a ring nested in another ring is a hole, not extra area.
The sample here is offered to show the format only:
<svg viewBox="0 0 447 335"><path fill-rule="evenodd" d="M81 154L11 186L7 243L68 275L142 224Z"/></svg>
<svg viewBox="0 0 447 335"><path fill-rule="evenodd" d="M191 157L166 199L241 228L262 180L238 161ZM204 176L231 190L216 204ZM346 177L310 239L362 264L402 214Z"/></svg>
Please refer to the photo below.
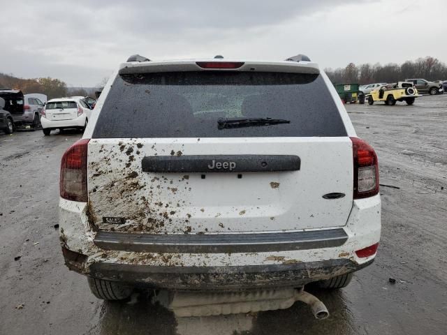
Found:
<svg viewBox="0 0 447 335"><path fill-rule="evenodd" d="M47 101L41 114L43 133L50 135L54 129L78 128L84 131L91 109L81 98L57 98Z"/></svg>

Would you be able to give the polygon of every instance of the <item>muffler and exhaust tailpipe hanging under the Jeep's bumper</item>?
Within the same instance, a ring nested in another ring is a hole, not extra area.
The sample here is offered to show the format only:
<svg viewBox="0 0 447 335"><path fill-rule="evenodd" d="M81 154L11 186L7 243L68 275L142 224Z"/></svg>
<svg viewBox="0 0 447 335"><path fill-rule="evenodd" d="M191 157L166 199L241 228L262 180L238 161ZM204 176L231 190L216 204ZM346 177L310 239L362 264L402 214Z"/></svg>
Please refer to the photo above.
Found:
<svg viewBox="0 0 447 335"><path fill-rule="evenodd" d="M295 301L309 305L317 320L329 317L328 308L303 288L280 288L247 292L168 292L153 298L177 317L228 315L273 311L291 307Z"/></svg>

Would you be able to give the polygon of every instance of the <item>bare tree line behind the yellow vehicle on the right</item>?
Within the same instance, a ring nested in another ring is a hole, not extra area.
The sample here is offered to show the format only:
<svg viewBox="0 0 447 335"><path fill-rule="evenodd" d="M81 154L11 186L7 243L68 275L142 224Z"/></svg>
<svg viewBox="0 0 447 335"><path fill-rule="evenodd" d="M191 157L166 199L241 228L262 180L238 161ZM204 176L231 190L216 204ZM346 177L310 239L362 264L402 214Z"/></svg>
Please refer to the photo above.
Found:
<svg viewBox="0 0 447 335"><path fill-rule="evenodd" d="M447 80L447 66L434 57L418 58L416 61L405 61L403 64L386 65L349 63L345 68L326 68L333 84L374 82L398 82L406 78L423 78L426 80Z"/></svg>

